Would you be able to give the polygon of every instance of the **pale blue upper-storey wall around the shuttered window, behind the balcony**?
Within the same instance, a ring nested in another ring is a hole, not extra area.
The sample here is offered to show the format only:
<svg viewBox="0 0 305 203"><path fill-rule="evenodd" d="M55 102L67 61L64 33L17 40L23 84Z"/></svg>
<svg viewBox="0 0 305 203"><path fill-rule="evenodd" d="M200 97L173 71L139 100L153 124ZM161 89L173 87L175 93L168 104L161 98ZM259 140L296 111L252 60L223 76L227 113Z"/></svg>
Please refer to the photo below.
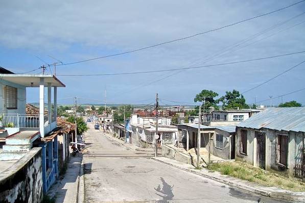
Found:
<svg viewBox="0 0 305 203"><path fill-rule="evenodd" d="M11 83L8 81L1 81L0 85L0 113L7 113L7 114L25 114L26 113L26 87ZM17 88L17 109L6 109L6 91L5 87L11 86Z"/></svg>

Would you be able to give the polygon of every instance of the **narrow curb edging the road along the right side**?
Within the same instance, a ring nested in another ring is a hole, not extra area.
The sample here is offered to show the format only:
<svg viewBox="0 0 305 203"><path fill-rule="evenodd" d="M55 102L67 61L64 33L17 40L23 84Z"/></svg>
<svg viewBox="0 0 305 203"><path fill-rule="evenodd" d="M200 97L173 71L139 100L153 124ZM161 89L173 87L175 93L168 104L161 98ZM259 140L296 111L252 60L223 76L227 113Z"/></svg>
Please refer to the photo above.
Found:
<svg viewBox="0 0 305 203"><path fill-rule="evenodd" d="M188 171L188 172L191 172L191 173L203 176L203 177L207 177L208 179L212 179L214 181L227 184L229 186L233 186L233 187L236 187L236 188L239 188L239 189L242 189L242 190L246 190L246 191L249 191L249 192L253 192L253 193L256 193L256 194L260 194L260 195L263 195L263 196L277 198L277 199L290 200L290 201L296 201L296 202L305 202L305 197L297 197L297 196L295 197L295 196L287 195L287 193L284 193L284 192L270 192L270 191L266 191L266 190L263 190L263 189L250 187L250 186L247 186L247 185L241 185L241 184L237 184L237 183L233 183L231 181L221 179L219 177L215 177L215 176L212 176L212 175L200 173L196 169L179 167L179 166L176 166L174 164L171 164L171 163L168 163L168 162L165 162L165 161L162 161L162 160L158 160L154 157L152 157L150 159L153 159L153 160L158 161L160 163L164 163L164 164L179 168L179 169L184 170L184 171Z"/></svg>

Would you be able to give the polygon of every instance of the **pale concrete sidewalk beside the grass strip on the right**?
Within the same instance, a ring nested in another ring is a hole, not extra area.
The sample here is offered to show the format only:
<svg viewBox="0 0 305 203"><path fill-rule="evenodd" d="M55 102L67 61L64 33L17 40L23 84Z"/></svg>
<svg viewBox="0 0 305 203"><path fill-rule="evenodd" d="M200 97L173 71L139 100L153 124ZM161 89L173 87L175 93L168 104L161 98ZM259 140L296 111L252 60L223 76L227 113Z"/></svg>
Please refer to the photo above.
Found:
<svg viewBox="0 0 305 203"><path fill-rule="evenodd" d="M276 187L266 187L259 185L257 183L251 183L248 181L243 181L240 179L236 179L234 177L230 177L228 175L222 175L219 172L211 172L207 169L197 170L191 164L185 164L176 160L172 160L166 157L153 157L151 158L161 163L165 163L181 170L189 171L195 173L197 175L201 175L207 177L209 179L225 183L227 185L237 187L243 190L247 190L250 192L254 192L256 194L269 196L273 198L285 199L285 200L292 200L297 202L305 202L305 192L292 192L288 190L279 189Z"/></svg>

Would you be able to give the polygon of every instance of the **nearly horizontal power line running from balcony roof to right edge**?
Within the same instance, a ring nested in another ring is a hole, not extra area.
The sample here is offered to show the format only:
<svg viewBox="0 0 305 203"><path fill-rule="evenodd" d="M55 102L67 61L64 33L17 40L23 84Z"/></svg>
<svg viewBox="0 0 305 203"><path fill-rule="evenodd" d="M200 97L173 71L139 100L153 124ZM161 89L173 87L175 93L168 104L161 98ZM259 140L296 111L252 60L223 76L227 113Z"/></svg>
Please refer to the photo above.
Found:
<svg viewBox="0 0 305 203"><path fill-rule="evenodd" d="M284 57L284 56L295 55L295 54L302 54L302 53L305 53L305 50L303 50L301 52L294 52L294 53L289 53L289 54L282 54L282 55L263 57L263 58L257 58L257 59L248 59L248 60L243 60L243 61L234 61L234 62L228 62L228 63L220 63L220 64L212 64L212 65L204 65L204 66L195 66L195 67L171 68L171 69L163 69L163 70L149 70L149 71L121 72L121 73L101 73L101 74L58 74L58 75L59 76L64 76L64 77L80 77L80 76L83 77L83 76L126 75L126 74L153 73L153 72L169 72L169 71L175 71L175 70L187 70L187 69L196 69L196 68L205 68L205 67L213 67L213 66L222 66L222 65L230 65L230 64L237 64L237 63L245 63L245 62L251 62L251 61L260 61L260 60L265 60L265 59Z"/></svg>

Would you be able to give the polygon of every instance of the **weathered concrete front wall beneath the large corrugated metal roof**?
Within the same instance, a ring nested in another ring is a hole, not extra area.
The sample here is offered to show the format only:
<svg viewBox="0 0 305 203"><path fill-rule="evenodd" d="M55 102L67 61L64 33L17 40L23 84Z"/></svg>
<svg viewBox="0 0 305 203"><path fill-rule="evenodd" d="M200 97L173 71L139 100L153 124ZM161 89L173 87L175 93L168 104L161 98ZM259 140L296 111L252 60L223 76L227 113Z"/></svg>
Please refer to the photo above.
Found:
<svg viewBox="0 0 305 203"><path fill-rule="evenodd" d="M247 155L240 152L241 148L241 130L247 130ZM257 163L257 141L255 138L255 129L245 129L237 127L236 136L236 159L245 161L253 166L259 166ZM258 130L257 130L258 131ZM304 147L304 133L292 131L276 131L270 129L261 129L266 133L266 170L275 169L286 172L289 175L299 176L298 170L302 167L302 149ZM277 134L289 136L288 144L288 168L278 167L276 160L276 139Z"/></svg>

